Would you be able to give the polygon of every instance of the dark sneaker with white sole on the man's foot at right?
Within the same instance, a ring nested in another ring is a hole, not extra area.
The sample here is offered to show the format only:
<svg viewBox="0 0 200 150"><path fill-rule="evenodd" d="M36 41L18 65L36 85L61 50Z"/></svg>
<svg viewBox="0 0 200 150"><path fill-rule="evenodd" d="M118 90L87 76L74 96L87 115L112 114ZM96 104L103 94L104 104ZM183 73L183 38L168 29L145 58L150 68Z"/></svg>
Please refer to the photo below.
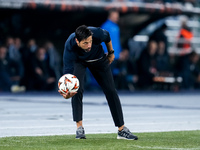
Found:
<svg viewBox="0 0 200 150"><path fill-rule="evenodd" d="M118 131L117 139L137 140L138 137L133 135L127 127L124 127L121 131Z"/></svg>

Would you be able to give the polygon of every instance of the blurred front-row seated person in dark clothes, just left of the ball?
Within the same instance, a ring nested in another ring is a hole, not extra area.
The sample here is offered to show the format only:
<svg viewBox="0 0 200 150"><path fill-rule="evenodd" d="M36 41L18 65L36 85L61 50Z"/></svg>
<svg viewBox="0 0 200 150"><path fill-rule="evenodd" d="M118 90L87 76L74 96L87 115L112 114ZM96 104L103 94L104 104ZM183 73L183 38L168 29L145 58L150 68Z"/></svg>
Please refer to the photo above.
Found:
<svg viewBox="0 0 200 150"><path fill-rule="evenodd" d="M56 75L54 70L49 66L49 62L45 59L46 49L39 47L35 52L35 57L31 60L31 76L32 90L51 91L55 90Z"/></svg>

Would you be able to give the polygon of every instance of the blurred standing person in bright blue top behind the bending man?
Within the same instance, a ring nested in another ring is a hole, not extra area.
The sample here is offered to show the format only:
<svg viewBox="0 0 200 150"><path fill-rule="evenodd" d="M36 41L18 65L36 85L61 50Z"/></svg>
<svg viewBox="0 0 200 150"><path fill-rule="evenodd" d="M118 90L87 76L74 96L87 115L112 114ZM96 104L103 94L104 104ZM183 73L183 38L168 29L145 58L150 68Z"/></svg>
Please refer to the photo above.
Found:
<svg viewBox="0 0 200 150"><path fill-rule="evenodd" d="M110 37L113 43L113 49L115 50L115 59L119 59L119 54L122 50L120 42L120 28L117 24L119 21L119 12L117 10L111 10L108 14L108 19L101 26L102 29L107 30L110 33ZM103 43L103 48L107 52L106 45Z"/></svg>

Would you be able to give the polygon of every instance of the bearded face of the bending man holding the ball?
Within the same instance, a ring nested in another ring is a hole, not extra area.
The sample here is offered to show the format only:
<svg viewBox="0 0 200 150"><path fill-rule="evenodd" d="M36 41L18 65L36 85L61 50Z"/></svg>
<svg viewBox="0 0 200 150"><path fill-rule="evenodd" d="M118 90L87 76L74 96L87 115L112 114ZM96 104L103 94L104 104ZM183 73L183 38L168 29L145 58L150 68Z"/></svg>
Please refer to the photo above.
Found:
<svg viewBox="0 0 200 150"><path fill-rule="evenodd" d="M76 39L76 43L85 52L89 52L91 50L91 47L92 47L92 36L89 36L87 39L84 39L80 42Z"/></svg>

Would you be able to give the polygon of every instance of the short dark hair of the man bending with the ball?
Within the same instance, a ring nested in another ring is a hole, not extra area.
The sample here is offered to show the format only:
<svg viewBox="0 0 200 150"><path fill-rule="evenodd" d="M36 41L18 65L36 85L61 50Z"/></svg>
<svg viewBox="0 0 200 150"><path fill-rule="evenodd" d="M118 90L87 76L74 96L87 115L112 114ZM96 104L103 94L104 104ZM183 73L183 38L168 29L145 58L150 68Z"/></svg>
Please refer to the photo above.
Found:
<svg viewBox="0 0 200 150"><path fill-rule="evenodd" d="M76 35L77 40L80 42L84 39L87 39L89 36L91 36L92 32L90 31L90 29L87 28L86 25L82 25L76 29L75 35Z"/></svg>

